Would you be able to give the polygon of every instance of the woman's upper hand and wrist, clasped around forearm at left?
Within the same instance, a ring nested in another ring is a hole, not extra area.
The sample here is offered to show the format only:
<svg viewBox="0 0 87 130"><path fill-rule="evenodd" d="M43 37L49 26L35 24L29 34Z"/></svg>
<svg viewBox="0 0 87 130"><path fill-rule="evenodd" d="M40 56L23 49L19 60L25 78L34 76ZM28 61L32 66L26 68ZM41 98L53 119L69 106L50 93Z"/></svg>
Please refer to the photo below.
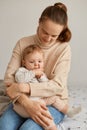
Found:
<svg viewBox="0 0 87 130"><path fill-rule="evenodd" d="M29 85L23 83L12 83L7 87L6 92L11 99L14 99L20 96L21 93L29 94Z"/></svg>

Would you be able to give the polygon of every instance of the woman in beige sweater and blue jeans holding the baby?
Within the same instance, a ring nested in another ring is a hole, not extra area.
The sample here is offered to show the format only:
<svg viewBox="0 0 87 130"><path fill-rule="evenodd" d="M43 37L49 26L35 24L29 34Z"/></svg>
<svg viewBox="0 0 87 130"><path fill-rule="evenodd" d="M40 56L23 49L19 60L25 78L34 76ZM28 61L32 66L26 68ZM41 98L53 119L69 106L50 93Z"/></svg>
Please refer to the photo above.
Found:
<svg viewBox="0 0 87 130"><path fill-rule="evenodd" d="M31 118L22 118L12 109L12 104L0 118L0 130L43 130L49 126L47 118L60 123L64 114L53 106L45 106L30 100L27 95L51 97L58 96L68 104L67 78L70 70L71 51L69 41L71 32L68 28L67 8L63 3L47 7L39 18L37 34L20 39L8 64L5 73L7 94L17 101L29 113ZM21 55L27 46L38 44L45 57L45 73L49 82L16 83L14 75L21 66ZM24 87L25 86L25 87ZM47 113L49 110L50 114ZM45 118L47 117L47 118ZM8 120L9 119L9 120Z"/></svg>

